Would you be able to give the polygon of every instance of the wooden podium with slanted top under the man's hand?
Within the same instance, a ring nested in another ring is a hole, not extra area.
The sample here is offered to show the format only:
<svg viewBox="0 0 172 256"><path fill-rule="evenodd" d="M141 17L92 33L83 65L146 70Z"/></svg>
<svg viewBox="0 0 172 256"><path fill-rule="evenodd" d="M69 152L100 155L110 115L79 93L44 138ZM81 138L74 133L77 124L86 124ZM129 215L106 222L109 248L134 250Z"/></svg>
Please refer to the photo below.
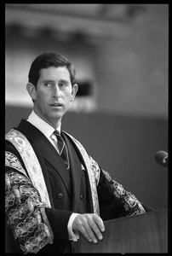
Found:
<svg viewBox="0 0 172 256"><path fill-rule="evenodd" d="M167 209L105 221L97 244L80 235L78 253L168 253Z"/></svg>

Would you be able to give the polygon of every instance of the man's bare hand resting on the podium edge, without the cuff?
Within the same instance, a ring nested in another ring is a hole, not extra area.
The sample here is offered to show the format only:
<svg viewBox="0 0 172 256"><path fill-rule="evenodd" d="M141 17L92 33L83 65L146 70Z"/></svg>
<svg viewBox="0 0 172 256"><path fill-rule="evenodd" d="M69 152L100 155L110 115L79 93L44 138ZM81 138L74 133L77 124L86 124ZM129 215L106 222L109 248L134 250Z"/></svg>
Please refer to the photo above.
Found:
<svg viewBox="0 0 172 256"><path fill-rule="evenodd" d="M88 241L96 243L103 239L101 232L105 231L105 225L95 213L85 213L77 215L73 221L72 230L76 233L81 232Z"/></svg>

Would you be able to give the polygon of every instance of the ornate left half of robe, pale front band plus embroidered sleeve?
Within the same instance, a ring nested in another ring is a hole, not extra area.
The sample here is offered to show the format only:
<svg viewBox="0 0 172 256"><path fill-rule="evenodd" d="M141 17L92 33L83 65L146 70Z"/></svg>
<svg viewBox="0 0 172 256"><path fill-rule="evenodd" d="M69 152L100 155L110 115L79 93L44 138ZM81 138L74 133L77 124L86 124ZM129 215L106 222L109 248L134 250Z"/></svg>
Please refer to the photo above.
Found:
<svg viewBox="0 0 172 256"><path fill-rule="evenodd" d="M5 174L8 223L23 253L37 253L54 239L44 211L50 202L43 173L31 144L20 131L13 129L5 138L19 151L27 170L14 154L5 152L5 166L9 167Z"/></svg>

